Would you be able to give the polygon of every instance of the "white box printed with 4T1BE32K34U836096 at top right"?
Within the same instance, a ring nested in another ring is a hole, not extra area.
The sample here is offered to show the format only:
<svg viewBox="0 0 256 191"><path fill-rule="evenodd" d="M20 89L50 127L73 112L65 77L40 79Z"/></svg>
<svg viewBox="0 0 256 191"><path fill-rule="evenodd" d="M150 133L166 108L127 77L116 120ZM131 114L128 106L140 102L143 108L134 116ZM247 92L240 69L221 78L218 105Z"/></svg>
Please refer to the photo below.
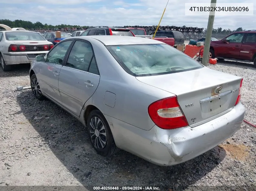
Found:
<svg viewBox="0 0 256 191"><path fill-rule="evenodd" d="M186 16L252 16L253 3L185 3Z"/></svg>

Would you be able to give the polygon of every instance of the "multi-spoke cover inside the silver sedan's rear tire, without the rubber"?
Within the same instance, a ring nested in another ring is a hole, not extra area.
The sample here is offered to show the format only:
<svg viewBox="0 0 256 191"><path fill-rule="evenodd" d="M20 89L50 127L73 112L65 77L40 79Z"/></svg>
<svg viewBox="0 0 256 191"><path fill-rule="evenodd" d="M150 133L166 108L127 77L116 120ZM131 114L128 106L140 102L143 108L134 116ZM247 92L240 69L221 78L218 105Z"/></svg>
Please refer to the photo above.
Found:
<svg viewBox="0 0 256 191"><path fill-rule="evenodd" d="M101 119L94 116L90 120L91 141L96 148L103 149L107 144L107 131Z"/></svg>

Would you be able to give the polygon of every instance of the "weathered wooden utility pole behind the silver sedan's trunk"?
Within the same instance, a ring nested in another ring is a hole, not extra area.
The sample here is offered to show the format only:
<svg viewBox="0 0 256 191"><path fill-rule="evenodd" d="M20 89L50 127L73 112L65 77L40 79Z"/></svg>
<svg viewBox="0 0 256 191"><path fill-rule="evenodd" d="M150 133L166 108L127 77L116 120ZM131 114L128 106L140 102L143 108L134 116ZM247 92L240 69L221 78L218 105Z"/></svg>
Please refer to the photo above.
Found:
<svg viewBox="0 0 256 191"><path fill-rule="evenodd" d="M211 0L211 7L216 7L216 0ZM209 12L209 19L208 19L205 45L204 45L204 53L203 53L203 59L202 59L202 64L205 66L207 66L209 62L209 51L210 51L210 44L211 44L211 34L213 29L214 15L215 15L215 11Z"/></svg>

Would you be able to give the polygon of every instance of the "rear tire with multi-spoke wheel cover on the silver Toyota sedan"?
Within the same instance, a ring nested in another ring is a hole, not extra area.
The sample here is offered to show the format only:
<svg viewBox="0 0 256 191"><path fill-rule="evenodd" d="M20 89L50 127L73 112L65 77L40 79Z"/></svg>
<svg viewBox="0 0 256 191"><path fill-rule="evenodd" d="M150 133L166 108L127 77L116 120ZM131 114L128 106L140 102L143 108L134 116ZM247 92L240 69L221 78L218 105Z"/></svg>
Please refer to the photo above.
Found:
<svg viewBox="0 0 256 191"><path fill-rule="evenodd" d="M115 145L107 120L99 110L92 110L89 113L87 130L91 145L101 156L109 157L120 150Z"/></svg>

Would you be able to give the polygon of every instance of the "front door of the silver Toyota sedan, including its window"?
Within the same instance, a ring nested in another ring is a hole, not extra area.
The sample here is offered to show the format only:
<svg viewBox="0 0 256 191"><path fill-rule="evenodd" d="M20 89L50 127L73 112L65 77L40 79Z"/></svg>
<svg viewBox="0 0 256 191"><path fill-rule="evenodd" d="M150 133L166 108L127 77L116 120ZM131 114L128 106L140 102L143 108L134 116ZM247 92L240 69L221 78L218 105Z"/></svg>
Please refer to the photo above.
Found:
<svg viewBox="0 0 256 191"><path fill-rule="evenodd" d="M38 72L38 80L41 82L42 92L59 104L62 101L58 87L58 78L63 60L71 43L72 40L64 41L49 51L46 61L41 62L40 71Z"/></svg>

